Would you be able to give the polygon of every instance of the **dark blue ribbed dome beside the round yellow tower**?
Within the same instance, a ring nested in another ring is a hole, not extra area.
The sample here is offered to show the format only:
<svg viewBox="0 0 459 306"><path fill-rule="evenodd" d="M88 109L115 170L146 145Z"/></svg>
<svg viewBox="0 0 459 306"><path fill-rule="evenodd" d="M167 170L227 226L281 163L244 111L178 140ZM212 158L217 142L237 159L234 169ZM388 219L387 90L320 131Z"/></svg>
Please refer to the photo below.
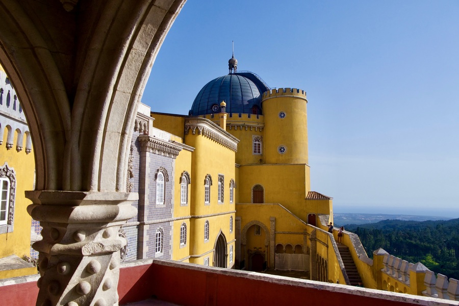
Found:
<svg viewBox="0 0 459 306"><path fill-rule="evenodd" d="M261 114L262 95L267 90L269 87L252 72L223 75L202 87L190 115L219 113L221 101L226 103L226 113Z"/></svg>

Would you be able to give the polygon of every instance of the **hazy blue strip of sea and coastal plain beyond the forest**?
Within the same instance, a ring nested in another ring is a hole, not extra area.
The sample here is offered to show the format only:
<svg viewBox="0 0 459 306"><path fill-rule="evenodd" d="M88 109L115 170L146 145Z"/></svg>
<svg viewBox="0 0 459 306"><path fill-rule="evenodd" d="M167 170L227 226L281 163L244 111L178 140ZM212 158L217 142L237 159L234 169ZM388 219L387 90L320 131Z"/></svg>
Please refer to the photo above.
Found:
<svg viewBox="0 0 459 306"><path fill-rule="evenodd" d="M388 210L388 211L383 211ZM381 215L404 215L404 216L427 216L445 218L445 220L459 218L459 211L451 211L451 209L443 208L422 208L413 210L412 208L399 207L362 207L358 205L340 205L333 207L334 214L381 214Z"/></svg>

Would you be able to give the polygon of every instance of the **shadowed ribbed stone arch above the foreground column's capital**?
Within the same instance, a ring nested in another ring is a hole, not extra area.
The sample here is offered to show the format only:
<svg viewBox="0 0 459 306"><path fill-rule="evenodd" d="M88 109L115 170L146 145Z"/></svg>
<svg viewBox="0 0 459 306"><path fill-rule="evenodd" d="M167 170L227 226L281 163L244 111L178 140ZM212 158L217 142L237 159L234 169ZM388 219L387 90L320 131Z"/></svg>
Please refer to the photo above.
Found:
<svg viewBox="0 0 459 306"><path fill-rule="evenodd" d="M92 2L53 18L2 3L0 62L33 135L37 190L125 191L137 106L183 2Z"/></svg>

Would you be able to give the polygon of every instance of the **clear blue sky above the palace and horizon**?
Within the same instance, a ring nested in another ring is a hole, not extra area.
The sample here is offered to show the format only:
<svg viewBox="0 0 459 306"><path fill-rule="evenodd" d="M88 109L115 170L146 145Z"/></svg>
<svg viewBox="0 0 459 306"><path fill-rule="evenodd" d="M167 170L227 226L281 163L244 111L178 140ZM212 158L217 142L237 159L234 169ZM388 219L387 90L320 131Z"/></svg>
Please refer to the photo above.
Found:
<svg viewBox="0 0 459 306"><path fill-rule="evenodd" d="M188 1L143 94L188 114L250 70L308 93L311 189L335 212L459 217L459 1Z"/></svg>

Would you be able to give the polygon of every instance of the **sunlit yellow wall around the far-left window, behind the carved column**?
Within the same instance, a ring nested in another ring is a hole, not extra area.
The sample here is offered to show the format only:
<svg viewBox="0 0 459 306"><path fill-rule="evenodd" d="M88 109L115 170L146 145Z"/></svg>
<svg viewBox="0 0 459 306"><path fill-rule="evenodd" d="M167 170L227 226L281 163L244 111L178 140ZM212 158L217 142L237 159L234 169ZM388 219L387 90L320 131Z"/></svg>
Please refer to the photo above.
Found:
<svg viewBox="0 0 459 306"><path fill-rule="evenodd" d="M35 160L33 151L31 154L25 153L26 137L23 137L23 149L16 151L17 133L14 135L14 146L7 150L7 129L4 131L3 144L0 146L0 166L5 162L8 167L14 168L16 173L16 196L14 201L14 221L13 232L0 234L0 258L15 254L19 258L30 257L30 231L32 217L27 213L27 207L31 201L25 198L26 190L33 190L35 177ZM0 271L0 278L15 277L37 273L37 269L19 269Z"/></svg>

